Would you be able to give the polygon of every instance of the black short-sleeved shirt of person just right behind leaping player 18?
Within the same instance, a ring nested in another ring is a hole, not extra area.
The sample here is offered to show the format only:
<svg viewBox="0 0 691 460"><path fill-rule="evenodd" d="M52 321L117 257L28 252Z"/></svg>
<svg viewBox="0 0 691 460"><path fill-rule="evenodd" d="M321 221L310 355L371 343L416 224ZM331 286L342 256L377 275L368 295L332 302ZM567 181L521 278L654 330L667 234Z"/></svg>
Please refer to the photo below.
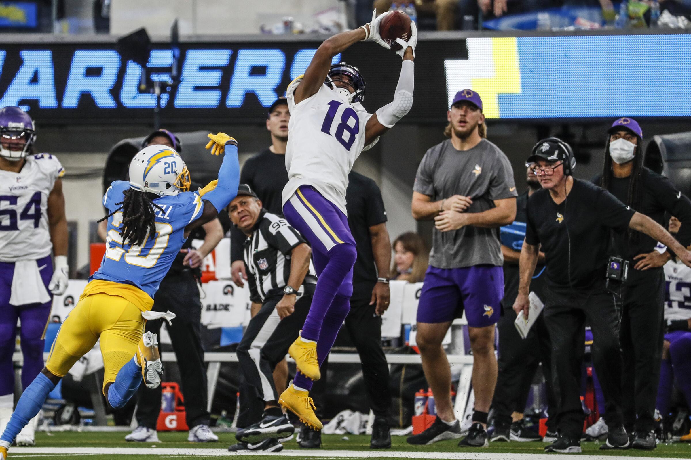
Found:
<svg viewBox="0 0 691 460"><path fill-rule="evenodd" d="M386 222L384 200L377 183L369 177L351 171L345 190L348 226L357 244L357 260L353 268L352 299L370 299L377 283L377 266L372 251L370 227ZM386 277L386 273L381 274Z"/></svg>

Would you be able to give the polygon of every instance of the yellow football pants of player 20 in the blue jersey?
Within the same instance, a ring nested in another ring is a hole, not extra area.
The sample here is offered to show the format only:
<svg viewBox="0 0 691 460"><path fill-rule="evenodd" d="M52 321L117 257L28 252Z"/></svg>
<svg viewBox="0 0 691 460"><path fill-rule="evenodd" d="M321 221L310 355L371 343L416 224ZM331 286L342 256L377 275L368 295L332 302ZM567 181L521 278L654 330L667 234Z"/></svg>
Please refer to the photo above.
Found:
<svg viewBox="0 0 691 460"><path fill-rule="evenodd" d="M115 381L120 368L137 352L145 323L142 310L122 297L108 294L84 297L62 323L50 348L46 368L58 377L65 377L100 338L105 390L106 384Z"/></svg>

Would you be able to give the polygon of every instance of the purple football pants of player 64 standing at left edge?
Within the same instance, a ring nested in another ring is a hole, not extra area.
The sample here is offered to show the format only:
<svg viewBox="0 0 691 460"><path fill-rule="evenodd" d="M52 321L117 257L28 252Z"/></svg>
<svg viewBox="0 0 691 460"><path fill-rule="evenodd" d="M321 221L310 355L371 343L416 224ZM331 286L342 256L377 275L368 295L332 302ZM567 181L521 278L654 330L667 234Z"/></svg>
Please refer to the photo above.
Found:
<svg viewBox="0 0 691 460"><path fill-rule="evenodd" d="M53 277L53 261L50 256L36 261L38 266L46 266L41 270L41 279L48 290L50 277ZM10 305L12 277L15 274L15 264L0 262L0 396L12 394L15 391L15 370L12 365L12 354L15 352L15 338L17 337L17 319L21 319L19 339L24 363L21 367L21 386L26 389L44 367L43 334L48 323L50 306L47 303L32 303L30 305ZM50 294L50 291L48 291ZM51 294L51 299L53 298Z"/></svg>

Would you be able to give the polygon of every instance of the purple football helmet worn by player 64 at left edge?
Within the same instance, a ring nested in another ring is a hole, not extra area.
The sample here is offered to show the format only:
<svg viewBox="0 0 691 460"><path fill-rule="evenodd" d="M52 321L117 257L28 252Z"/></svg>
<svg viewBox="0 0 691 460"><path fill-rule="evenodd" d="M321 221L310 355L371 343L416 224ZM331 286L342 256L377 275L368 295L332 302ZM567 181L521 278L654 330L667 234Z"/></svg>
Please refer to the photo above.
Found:
<svg viewBox="0 0 691 460"><path fill-rule="evenodd" d="M29 114L19 107L0 109L0 156L10 161L19 161L31 151L36 139L34 122ZM21 145L21 139L25 142ZM9 144L9 146L8 146ZM12 146L15 144L15 146ZM21 147L21 149L20 149Z"/></svg>

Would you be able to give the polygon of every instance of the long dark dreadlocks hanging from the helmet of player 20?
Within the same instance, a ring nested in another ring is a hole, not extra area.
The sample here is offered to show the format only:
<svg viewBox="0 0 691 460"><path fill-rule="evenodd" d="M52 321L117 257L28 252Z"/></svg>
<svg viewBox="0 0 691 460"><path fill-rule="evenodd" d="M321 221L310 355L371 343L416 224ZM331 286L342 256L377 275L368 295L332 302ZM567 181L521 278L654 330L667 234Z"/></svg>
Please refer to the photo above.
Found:
<svg viewBox="0 0 691 460"><path fill-rule="evenodd" d="M104 221L115 214L115 212L122 210L122 227L120 227L122 243L144 246L149 235L153 235L156 232L154 208L160 211L163 208L153 202L153 199L158 198L153 193L140 192L128 188L123 194L124 199L120 203L115 203L115 206L122 206L100 221Z"/></svg>

